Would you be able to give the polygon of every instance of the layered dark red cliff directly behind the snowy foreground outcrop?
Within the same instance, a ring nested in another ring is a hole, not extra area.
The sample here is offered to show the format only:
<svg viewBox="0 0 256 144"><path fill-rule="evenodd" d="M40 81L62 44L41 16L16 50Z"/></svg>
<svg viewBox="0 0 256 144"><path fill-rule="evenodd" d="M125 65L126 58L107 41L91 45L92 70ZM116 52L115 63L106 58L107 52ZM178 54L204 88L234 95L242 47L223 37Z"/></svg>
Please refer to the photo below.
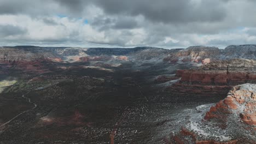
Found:
<svg viewBox="0 0 256 144"><path fill-rule="evenodd" d="M256 61L231 59L215 61L189 70L177 70L181 80L171 89L184 94L225 94L235 85L256 83Z"/></svg>

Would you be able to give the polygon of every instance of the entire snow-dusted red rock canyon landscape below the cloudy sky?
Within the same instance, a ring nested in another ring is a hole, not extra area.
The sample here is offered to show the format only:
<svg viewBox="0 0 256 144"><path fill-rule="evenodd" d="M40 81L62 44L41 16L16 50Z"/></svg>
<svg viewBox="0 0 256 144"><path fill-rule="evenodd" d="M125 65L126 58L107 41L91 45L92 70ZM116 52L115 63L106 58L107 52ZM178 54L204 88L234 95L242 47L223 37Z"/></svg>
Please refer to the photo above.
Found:
<svg viewBox="0 0 256 144"><path fill-rule="evenodd" d="M2 46L0 143L255 143L255 71L256 45Z"/></svg>

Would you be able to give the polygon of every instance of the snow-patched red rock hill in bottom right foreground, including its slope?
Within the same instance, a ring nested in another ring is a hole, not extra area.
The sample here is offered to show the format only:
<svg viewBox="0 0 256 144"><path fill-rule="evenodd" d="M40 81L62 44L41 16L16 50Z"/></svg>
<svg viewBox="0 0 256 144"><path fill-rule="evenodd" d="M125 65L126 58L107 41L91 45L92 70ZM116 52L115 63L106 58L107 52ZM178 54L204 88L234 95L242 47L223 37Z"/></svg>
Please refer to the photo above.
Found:
<svg viewBox="0 0 256 144"><path fill-rule="evenodd" d="M256 85L235 86L228 97L214 106L201 105L199 114L191 115L180 133L174 135L176 143L255 143Z"/></svg>

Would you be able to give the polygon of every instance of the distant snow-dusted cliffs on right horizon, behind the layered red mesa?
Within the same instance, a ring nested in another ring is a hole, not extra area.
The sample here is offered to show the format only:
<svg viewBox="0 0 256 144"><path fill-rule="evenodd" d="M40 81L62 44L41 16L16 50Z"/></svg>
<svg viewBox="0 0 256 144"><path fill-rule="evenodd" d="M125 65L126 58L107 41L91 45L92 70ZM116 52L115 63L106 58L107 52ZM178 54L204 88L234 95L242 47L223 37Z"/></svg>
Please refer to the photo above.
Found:
<svg viewBox="0 0 256 144"><path fill-rule="evenodd" d="M224 50L217 47L190 46L168 55L164 61L210 63L234 58L256 59L256 45L231 45Z"/></svg>

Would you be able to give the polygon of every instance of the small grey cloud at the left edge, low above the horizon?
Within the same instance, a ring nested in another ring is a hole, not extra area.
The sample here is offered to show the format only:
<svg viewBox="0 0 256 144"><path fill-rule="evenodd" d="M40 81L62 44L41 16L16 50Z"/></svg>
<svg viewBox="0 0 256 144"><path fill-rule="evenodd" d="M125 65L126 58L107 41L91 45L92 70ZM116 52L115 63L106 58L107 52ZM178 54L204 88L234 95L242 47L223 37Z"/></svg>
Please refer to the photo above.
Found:
<svg viewBox="0 0 256 144"><path fill-rule="evenodd" d="M17 26L12 25L0 25L0 35L1 37L8 37L11 35L20 35L25 34L27 31L26 29L22 29Z"/></svg>

